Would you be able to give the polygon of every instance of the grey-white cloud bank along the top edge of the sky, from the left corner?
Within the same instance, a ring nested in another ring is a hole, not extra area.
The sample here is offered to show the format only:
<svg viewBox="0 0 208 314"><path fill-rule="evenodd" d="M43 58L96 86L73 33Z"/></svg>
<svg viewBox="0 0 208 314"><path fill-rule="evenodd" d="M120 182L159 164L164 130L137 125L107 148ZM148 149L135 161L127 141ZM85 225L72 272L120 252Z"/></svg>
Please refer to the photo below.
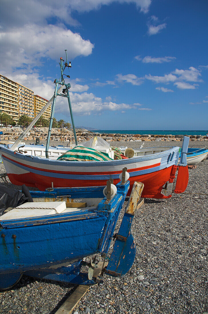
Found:
<svg viewBox="0 0 208 314"><path fill-rule="evenodd" d="M73 26L80 23L72 18L73 11L89 12L114 0L2 0L0 1L1 26L20 27L25 24L46 25L48 20L64 22ZM118 0L118 3L135 3L141 12L147 13L151 0Z"/></svg>

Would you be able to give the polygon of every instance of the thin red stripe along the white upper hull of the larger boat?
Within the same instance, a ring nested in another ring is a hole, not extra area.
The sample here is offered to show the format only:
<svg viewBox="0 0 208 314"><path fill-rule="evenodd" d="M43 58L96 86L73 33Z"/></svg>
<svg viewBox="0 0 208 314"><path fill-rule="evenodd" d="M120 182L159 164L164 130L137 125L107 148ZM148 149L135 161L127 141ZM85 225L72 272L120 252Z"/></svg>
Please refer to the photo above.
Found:
<svg viewBox="0 0 208 314"><path fill-rule="evenodd" d="M22 165L24 167L30 168L30 169L35 169L38 171L44 171L44 172L53 172L53 173L62 173L62 174L74 174L74 175L110 175L110 174L120 174L121 171L107 171L107 172L73 172L73 171L59 171L59 170L49 170L49 169L42 169L42 168L37 168L37 167L33 167L33 166L29 166L26 164L22 164L19 161L13 160L5 155L2 154L2 157L11 160L12 162L18 164L18 165ZM154 165L150 165L150 166L144 166L144 167L139 167L139 168L134 168L134 169L128 169L128 172L134 172L134 171L139 171L139 170L145 170L145 169L150 169L150 168L154 168L154 167L159 167L160 163L154 164Z"/></svg>

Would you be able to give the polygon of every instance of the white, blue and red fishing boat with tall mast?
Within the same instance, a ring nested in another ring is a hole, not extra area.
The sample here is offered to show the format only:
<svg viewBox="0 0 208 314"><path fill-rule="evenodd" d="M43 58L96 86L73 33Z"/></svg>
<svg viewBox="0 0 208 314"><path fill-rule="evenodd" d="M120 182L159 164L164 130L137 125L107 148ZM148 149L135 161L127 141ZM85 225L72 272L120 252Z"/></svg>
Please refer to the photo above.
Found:
<svg viewBox="0 0 208 314"><path fill-rule="evenodd" d="M0 155L7 171L8 177L13 184L25 184L28 187L37 187L39 190L45 190L48 187L93 187L103 186L106 180L112 178L114 184L120 179L119 175L122 169L126 167L130 177L130 189L134 181L144 184L142 197L146 198L169 198L170 195L163 195L162 189L166 188L166 183L173 183L178 169L177 182L173 192L184 192L188 184L188 168L186 163L186 153L188 149L189 138L184 137L181 160L178 165L180 153L179 147L154 147L136 149L134 156L122 160L107 161L66 161L57 160L64 153L66 148L49 147L49 140L55 109L55 100L57 96L67 97L71 122L74 130L75 142L77 145L74 120L71 110L69 88L70 84L65 84L63 71L70 64L60 59L61 77L56 79L55 92L48 104L31 122L30 126L20 135L18 140L11 146L0 145ZM58 90L58 85L61 87ZM63 89L62 94L59 94ZM48 129L48 139L46 146L25 145L20 150L20 141L31 127L37 122L42 113L52 103L51 119ZM164 187L165 186L165 187Z"/></svg>

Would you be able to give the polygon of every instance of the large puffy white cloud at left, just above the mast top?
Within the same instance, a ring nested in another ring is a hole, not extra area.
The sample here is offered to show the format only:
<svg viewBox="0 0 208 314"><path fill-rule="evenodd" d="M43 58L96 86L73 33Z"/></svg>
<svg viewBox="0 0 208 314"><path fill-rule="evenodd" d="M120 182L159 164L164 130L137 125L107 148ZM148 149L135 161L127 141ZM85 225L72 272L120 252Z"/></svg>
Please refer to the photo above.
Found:
<svg viewBox="0 0 208 314"><path fill-rule="evenodd" d="M54 44L55 43L55 44ZM2 68L40 65L42 58L57 59L68 49L68 56L88 56L94 45L63 25L25 25L7 31L0 29ZM63 56L65 58L65 56Z"/></svg>

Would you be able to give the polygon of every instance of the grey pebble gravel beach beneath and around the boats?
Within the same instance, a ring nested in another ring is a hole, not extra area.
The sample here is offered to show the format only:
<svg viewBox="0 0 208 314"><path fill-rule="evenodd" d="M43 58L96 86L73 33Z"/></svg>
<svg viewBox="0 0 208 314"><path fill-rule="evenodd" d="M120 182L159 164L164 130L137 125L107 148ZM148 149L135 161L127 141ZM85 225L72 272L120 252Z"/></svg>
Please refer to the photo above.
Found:
<svg viewBox="0 0 208 314"><path fill-rule="evenodd" d="M142 143L143 147L182 145ZM119 145L133 148L142 143ZM0 170L5 172L3 164ZM104 274L103 282L90 288L74 314L208 313L208 195L200 194L208 194L207 176L205 160L189 169L186 192L190 194L145 200L132 224L137 253L131 270L123 278ZM11 183L8 186L18 188ZM12 290L0 291L0 312L53 314L75 288L23 276Z"/></svg>

